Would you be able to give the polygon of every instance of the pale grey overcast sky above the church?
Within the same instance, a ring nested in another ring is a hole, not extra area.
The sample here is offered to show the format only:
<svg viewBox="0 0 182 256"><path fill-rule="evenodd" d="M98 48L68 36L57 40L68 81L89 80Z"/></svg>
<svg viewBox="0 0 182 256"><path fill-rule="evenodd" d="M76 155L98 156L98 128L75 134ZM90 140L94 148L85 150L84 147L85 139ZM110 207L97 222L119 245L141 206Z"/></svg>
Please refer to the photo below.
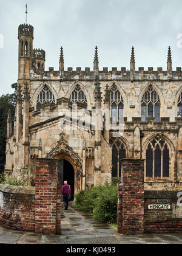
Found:
<svg viewBox="0 0 182 256"><path fill-rule="evenodd" d="M101 70L129 69L132 46L136 70L166 70L169 46L173 69L182 66L181 0L0 0L0 95L12 93L18 77L18 26L25 23L26 2L33 47L45 50L45 70L59 69L61 46L66 70L92 70L95 46Z"/></svg>

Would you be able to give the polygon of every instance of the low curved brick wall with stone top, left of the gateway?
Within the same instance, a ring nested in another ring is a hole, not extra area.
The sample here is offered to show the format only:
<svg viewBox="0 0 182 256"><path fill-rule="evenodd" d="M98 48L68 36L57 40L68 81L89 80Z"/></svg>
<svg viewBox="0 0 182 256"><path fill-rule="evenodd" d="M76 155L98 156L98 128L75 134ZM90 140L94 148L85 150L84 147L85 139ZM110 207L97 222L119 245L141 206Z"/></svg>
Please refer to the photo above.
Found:
<svg viewBox="0 0 182 256"><path fill-rule="evenodd" d="M0 223L8 229L34 231L35 187L0 184Z"/></svg>

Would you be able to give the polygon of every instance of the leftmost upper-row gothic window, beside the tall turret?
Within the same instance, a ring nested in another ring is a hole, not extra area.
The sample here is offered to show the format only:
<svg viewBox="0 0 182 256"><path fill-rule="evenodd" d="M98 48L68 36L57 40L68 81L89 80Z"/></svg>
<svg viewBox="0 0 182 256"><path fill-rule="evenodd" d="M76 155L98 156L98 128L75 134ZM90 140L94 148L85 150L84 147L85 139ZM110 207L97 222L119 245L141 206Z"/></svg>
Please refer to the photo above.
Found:
<svg viewBox="0 0 182 256"><path fill-rule="evenodd" d="M42 103L53 103L55 104L55 97L50 91L49 87L47 85L44 85L44 88L42 88L42 91L38 95L38 99L36 102L36 109L40 109Z"/></svg>

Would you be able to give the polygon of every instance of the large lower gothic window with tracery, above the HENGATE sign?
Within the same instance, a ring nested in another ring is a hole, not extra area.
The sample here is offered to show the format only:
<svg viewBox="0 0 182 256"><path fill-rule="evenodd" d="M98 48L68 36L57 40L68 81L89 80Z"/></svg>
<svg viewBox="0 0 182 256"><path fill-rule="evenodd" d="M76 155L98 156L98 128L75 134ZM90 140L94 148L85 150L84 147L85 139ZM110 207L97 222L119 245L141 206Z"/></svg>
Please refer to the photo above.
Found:
<svg viewBox="0 0 182 256"><path fill-rule="evenodd" d="M152 139L147 147L146 177L169 177L169 147L160 136Z"/></svg>

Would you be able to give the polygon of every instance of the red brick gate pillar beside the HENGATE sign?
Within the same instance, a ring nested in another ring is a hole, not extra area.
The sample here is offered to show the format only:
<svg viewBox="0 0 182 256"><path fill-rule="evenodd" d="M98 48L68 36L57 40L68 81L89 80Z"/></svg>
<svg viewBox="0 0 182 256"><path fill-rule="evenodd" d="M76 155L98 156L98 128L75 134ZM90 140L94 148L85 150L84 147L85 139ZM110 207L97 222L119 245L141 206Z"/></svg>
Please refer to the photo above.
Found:
<svg viewBox="0 0 182 256"><path fill-rule="evenodd" d="M118 184L118 233L144 232L144 160L123 159Z"/></svg>

